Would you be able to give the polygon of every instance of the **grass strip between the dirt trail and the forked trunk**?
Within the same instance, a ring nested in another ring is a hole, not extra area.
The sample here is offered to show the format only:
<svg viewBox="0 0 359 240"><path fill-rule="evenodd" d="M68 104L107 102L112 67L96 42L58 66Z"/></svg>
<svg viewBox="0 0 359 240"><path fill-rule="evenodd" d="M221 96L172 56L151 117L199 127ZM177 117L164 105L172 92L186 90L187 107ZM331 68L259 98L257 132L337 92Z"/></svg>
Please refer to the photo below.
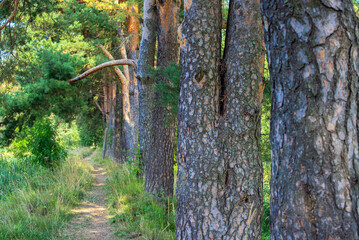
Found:
<svg viewBox="0 0 359 240"><path fill-rule="evenodd" d="M175 239L176 203L174 198L159 201L144 192L144 179L137 177L137 168L130 163L113 164L96 160L106 166L107 204L116 235L121 239Z"/></svg>

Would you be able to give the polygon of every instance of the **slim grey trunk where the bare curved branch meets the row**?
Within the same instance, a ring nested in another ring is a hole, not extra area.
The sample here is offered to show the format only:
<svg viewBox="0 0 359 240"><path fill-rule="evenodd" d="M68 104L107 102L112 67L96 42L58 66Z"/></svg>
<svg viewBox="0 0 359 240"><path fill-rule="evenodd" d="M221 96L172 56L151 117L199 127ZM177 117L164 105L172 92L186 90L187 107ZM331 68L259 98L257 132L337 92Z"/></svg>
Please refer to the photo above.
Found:
<svg viewBox="0 0 359 240"><path fill-rule="evenodd" d="M137 78L139 80L139 126L140 153L143 166L149 159L152 146L152 114L153 114L153 80L149 76L148 67L153 67L156 52L157 15L155 0L145 0L143 6L143 26L140 55L138 59Z"/></svg>

